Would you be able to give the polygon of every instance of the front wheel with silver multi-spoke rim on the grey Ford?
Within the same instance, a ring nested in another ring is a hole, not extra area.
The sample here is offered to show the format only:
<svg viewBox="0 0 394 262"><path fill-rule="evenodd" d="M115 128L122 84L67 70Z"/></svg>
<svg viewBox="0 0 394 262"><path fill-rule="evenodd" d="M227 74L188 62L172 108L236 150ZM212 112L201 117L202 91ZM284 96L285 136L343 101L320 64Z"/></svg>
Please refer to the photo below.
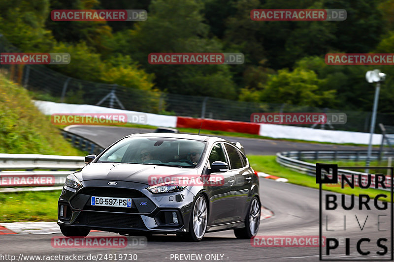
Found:
<svg viewBox="0 0 394 262"><path fill-rule="evenodd" d="M197 196L192 208L189 222L189 233L186 235L190 241L200 241L205 234L208 223L208 205L202 195Z"/></svg>

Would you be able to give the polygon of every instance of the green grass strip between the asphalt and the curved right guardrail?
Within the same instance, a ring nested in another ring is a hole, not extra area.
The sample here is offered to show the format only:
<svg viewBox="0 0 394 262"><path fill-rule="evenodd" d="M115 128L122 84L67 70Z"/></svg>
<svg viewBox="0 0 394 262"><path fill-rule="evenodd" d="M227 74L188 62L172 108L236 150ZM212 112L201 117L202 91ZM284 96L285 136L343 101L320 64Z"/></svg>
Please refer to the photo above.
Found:
<svg viewBox="0 0 394 262"><path fill-rule="evenodd" d="M316 184L315 176L301 174L296 171L282 167L276 162L275 160L276 156L251 155L248 156L248 158L253 169L258 172L264 172L269 175L276 175L279 177L287 178L289 179L288 183L317 188L317 189L319 188L319 184ZM344 189L342 189L341 187L332 187L327 185L323 185L323 190L349 194L349 195L354 194L355 196L359 196L360 194L368 194L371 198L375 198L376 195L382 194L382 192L387 193L387 191L382 191L377 189L361 189L358 187L355 187L354 189L345 187ZM390 196L386 200L391 201Z"/></svg>

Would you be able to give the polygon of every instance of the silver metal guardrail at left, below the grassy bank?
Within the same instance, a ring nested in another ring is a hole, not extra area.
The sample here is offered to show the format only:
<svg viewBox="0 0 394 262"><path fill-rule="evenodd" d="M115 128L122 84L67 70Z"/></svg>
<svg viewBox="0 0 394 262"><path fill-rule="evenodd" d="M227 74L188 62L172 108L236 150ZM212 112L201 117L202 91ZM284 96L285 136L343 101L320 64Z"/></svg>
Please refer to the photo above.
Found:
<svg viewBox="0 0 394 262"><path fill-rule="evenodd" d="M84 165L82 156L0 154L0 187L63 185L68 174Z"/></svg>

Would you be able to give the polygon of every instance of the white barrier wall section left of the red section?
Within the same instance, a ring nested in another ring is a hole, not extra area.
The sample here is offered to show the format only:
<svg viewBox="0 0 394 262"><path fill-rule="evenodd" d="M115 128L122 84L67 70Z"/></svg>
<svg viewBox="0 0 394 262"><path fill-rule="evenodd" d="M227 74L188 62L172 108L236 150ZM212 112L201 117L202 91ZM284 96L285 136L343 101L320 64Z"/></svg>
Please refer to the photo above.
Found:
<svg viewBox="0 0 394 262"><path fill-rule="evenodd" d="M99 107L92 105L74 105L65 103L55 103L48 101L34 101L35 106L45 115L52 114L85 114L85 113L101 113L101 114L126 114L128 122L131 122L132 116L145 114L146 122L132 122L134 124L147 124L153 126L176 127L176 116L164 116L150 113L141 113L137 111L128 111L108 107Z"/></svg>

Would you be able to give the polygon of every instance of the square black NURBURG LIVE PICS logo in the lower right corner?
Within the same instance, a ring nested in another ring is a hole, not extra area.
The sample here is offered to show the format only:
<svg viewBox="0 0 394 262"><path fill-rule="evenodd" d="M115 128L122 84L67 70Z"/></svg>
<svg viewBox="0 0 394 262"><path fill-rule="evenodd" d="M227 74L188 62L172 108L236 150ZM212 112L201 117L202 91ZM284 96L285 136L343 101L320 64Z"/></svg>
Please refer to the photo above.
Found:
<svg viewBox="0 0 394 262"><path fill-rule="evenodd" d="M390 176L380 173L349 172L349 169L355 167L338 168L335 164L316 164L316 183L319 184L320 243L323 230L326 237L325 250L322 245L319 246L319 258L321 261L393 261L394 168L357 167L357 169L382 171L388 169L391 171ZM346 189L348 193L354 189L357 192L351 192L351 195L323 192L322 184L336 184L338 176L342 189ZM389 179L390 183L386 181ZM379 192L372 199L368 192L360 191L369 188L385 191ZM353 193L359 193L359 196ZM391 202L383 201L389 200L390 197ZM345 242L340 243L338 240L343 238Z"/></svg>

